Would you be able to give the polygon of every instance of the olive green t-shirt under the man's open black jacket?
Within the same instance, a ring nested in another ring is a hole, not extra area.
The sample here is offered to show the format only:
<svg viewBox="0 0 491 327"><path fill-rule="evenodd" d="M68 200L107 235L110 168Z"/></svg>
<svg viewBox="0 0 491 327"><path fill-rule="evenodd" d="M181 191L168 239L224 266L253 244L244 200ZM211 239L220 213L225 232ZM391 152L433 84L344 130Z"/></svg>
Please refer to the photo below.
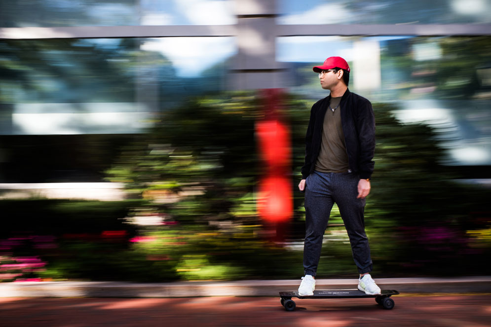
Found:
<svg viewBox="0 0 491 327"><path fill-rule="evenodd" d="M346 172L348 171L348 155L344 144L344 134L341 126L341 101L339 98L331 98L330 108L324 116L322 128L322 142L315 170L321 172ZM336 106L338 106L336 108ZM334 111L331 108L336 108Z"/></svg>

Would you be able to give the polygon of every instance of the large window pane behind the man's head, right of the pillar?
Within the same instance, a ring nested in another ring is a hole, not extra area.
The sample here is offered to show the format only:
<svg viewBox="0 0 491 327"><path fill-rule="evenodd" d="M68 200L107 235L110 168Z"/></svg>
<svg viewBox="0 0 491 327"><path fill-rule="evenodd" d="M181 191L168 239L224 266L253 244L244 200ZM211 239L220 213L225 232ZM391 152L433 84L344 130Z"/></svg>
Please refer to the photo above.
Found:
<svg viewBox="0 0 491 327"><path fill-rule="evenodd" d="M331 56L350 65L349 88L396 103L403 122L439 127L448 164L491 164L491 37L296 36L277 39L292 92L326 97L312 71Z"/></svg>

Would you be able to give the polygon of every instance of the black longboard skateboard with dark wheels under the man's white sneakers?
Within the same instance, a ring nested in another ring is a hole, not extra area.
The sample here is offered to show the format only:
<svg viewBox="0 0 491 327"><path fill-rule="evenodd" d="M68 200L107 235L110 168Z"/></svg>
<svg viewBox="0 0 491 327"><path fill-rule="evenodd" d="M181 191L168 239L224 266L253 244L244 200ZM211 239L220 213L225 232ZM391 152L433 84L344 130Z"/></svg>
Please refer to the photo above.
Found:
<svg viewBox="0 0 491 327"><path fill-rule="evenodd" d="M399 292L394 290L382 290L378 295L367 295L359 290L319 290L314 291L313 295L302 296L297 291L295 292L280 292L281 305L286 311L293 311L297 306L292 297L298 298L359 298L359 297L375 297L375 301L383 306L384 309L392 309L394 300L390 298L392 295L397 295Z"/></svg>

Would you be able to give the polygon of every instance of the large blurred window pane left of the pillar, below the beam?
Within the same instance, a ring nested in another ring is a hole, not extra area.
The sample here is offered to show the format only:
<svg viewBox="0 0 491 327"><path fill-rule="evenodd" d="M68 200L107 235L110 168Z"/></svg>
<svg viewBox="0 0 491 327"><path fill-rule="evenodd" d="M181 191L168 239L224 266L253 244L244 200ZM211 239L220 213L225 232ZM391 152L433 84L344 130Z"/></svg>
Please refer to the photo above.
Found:
<svg viewBox="0 0 491 327"><path fill-rule="evenodd" d="M0 134L136 133L225 88L233 37L0 41Z"/></svg>

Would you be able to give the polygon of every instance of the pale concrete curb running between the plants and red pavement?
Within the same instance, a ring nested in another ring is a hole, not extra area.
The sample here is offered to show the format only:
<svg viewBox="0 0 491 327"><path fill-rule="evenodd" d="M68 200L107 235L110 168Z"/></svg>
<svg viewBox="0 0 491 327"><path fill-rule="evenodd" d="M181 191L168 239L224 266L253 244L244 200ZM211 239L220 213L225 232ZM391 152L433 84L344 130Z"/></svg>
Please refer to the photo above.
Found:
<svg viewBox="0 0 491 327"><path fill-rule="evenodd" d="M189 297L277 296L295 291L299 280L246 280L172 283L14 282L0 283L0 297ZM375 278L381 289L400 293L491 293L491 276L455 278ZM356 289L357 279L317 279L317 290Z"/></svg>

